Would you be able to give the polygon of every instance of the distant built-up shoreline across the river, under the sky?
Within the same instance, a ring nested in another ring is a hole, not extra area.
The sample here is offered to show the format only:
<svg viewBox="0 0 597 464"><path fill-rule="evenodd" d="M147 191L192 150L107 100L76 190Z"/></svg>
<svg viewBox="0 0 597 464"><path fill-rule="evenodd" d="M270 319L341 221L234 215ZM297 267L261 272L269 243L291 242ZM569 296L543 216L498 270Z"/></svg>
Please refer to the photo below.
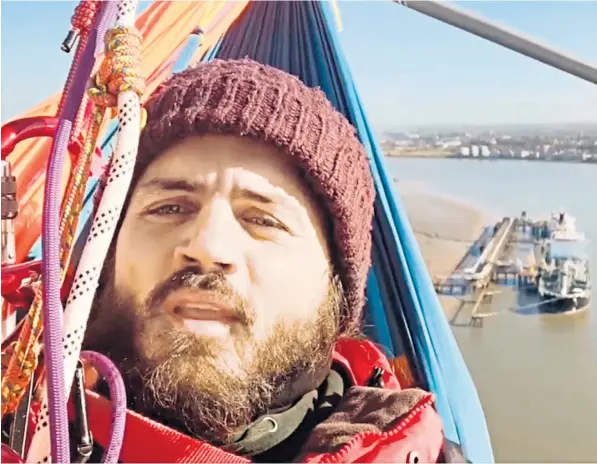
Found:
<svg viewBox="0 0 597 464"><path fill-rule="evenodd" d="M386 132L386 156L597 163L597 125Z"/></svg>

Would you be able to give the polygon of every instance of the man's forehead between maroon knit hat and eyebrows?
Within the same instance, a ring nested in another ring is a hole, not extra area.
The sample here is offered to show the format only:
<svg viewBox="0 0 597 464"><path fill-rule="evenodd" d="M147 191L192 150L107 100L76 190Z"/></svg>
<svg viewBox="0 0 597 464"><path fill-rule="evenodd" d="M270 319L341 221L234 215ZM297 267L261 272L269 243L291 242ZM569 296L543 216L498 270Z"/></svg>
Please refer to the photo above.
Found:
<svg viewBox="0 0 597 464"><path fill-rule="evenodd" d="M237 187L283 191L301 203L314 202L305 179L288 155L272 144L232 135L187 137L148 166L140 185L156 178L209 184L226 172L233 173Z"/></svg>

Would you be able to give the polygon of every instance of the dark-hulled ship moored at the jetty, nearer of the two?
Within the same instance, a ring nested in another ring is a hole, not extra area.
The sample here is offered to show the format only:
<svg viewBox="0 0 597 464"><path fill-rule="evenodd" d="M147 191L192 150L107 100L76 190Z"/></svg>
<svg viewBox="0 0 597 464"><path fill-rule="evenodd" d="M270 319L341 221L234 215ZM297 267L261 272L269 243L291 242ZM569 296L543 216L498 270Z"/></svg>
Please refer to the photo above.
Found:
<svg viewBox="0 0 597 464"><path fill-rule="evenodd" d="M585 240L550 240L537 291L554 312L576 312L588 308L591 273Z"/></svg>

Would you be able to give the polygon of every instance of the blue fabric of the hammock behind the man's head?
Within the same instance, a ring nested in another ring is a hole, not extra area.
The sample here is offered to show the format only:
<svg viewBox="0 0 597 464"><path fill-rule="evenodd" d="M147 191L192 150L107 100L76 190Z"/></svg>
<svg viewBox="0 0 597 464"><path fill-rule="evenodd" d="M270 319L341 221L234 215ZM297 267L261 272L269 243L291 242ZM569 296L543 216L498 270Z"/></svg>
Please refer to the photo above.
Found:
<svg viewBox="0 0 597 464"><path fill-rule="evenodd" d="M192 36L174 68L188 66L199 38ZM367 288L366 330L388 356L406 355L417 384L437 396L446 437L459 443L472 462L493 462L477 391L437 299L431 278L392 177L388 175L335 32L328 2L251 2L226 35L205 56L249 57L288 71L328 98L357 128L369 154L377 199L373 224L373 266ZM116 123L102 145L116 133ZM88 189L79 232L90 227ZM81 242L81 241L79 241ZM78 246L82 246L79 243ZM39 245L32 250L40 255ZM76 256L76 254L75 254Z"/></svg>

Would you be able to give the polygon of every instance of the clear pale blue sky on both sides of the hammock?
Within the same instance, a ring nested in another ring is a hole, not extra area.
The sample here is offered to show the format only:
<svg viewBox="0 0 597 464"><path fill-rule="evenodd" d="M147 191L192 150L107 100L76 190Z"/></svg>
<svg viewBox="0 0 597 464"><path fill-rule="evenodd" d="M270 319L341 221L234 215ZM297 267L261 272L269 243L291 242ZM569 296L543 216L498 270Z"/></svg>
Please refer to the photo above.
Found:
<svg viewBox="0 0 597 464"><path fill-rule="evenodd" d="M78 2L2 0L2 121L62 88ZM597 63L595 1L458 6ZM597 122L597 86L389 1L341 1L340 40L378 130Z"/></svg>

